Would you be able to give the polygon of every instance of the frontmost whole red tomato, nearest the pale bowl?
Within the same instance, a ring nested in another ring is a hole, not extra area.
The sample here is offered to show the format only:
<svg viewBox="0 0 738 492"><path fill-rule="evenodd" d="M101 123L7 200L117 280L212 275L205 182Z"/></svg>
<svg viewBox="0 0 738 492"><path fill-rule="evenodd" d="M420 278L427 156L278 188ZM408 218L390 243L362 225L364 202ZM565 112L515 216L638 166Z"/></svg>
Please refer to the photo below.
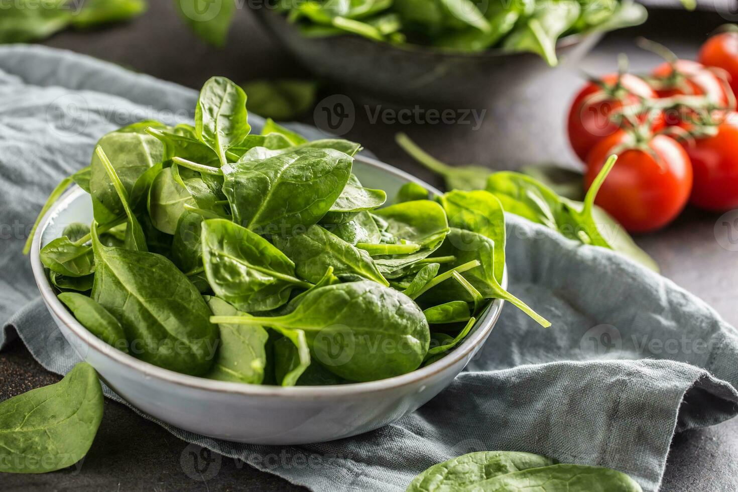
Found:
<svg viewBox="0 0 738 492"><path fill-rule="evenodd" d="M597 193L596 204L630 232L659 229L679 215L692 191L692 165L675 139L656 135L639 148L631 134L613 134L587 158L587 189L613 153L618 162Z"/></svg>

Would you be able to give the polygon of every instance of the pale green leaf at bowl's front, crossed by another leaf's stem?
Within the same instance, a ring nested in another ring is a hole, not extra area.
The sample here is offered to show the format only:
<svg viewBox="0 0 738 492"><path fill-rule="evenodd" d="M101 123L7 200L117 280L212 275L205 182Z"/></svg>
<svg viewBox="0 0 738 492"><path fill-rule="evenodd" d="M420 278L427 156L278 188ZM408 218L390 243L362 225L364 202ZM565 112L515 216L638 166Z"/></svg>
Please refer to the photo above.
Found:
<svg viewBox="0 0 738 492"><path fill-rule="evenodd" d="M247 316L218 297L207 297L215 316ZM266 340L269 334L261 326L237 326L221 323L218 355L208 379L261 384L266 367Z"/></svg>

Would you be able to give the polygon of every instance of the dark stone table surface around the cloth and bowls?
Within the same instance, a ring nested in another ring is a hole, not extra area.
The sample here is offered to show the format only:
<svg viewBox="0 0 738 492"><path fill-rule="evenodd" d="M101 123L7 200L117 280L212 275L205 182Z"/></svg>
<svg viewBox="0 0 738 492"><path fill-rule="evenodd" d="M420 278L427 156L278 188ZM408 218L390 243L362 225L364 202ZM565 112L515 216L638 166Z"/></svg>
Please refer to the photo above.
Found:
<svg viewBox="0 0 738 492"><path fill-rule="evenodd" d="M239 12L227 50L201 44L179 22L172 1L151 0L147 15L129 24L96 32L63 32L46 41L49 46L72 49L120 63L139 72L198 88L212 75L237 82L261 77L309 77L256 23L249 12ZM245 3L245 2L241 2ZM708 2L710 4L711 2ZM648 35L683 56L694 56L697 46L725 16L705 11L683 13L655 10L642 27L615 32L587 56L584 72L602 73L616 68L615 57L627 52L631 66L647 71L658 62L635 47L634 35ZM516 120L526 120L516 136L495 142L500 122L484 119L480 128L470 125L372 124L359 105L356 123L347 138L362 142L380 159L440 185L435 177L412 162L394 144L393 135L405 131L451 164L476 162L490 167L514 168L520 162L554 161L577 165L565 141L562 122L568 103L581 84L577 69L559 69L542 77L520 101ZM511 83L518 83L511 80ZM334 94L325 89L322 97ZM461 108L459 108L461 109ZM479 108L481 109L481 108ZM305 119L311 122L311 117ZM494 143L493 143L494 142ZM519 159L499 162L500 146L516 150ZM496 152L497 149L497 152ZM716 228L716 224L718 224ZM661 232L637 238L660 263L663 274L706 300L720 314L738 324L738 252L719 215L687 209ZM727 241L727 242L726 242ZM723 246L721 246L721 244ZM724 247L725 246L725 247ZM0 353L0 401L29 389L58 381L43 370L25 347L14 342ZM192 473L187 443L156 424L138 417L118 403L106 401L100 432L80 468L44 475L0 474L2 491L287 491L298 490L283 479L256 471L242 462L224 458L214 477ZM189 461L188 461L189 460ZM663 479L664 492L724 492L725 479L738 481L738 420L678 434L672 443ZM734 482L736 483L736 482ZM731 490L738 490L735 485Z"/></svg>

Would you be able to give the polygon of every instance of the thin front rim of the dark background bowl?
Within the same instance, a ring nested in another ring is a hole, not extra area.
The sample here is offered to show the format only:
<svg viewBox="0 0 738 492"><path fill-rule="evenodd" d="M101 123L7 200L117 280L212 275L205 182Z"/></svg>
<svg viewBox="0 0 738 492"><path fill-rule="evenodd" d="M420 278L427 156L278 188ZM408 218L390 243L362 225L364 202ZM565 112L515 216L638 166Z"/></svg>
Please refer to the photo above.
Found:
<svg viewBox="0 0 738 492"><path fill-rule="evenodd" d="M284 26L288 27L289 29L292 29L294 32L297 32L298 35L302 35L299 30L292 28L294 24L291 24L289 21L287 21L287 18L285 15L281 15L279 12L277 12L274 9L252 9L255 10L258 14L256 15L257 18L261 18L263 16L272 16L272 18L279 18L277 22L281 22L284 24ZM261 10L265 10L268 13L259 14ZM269 21L267 21L269 22ZM559 38L556 40L556 51L559 51L559 49L568 49L571 46L575 46L577 44L582 43L587 38L591 38L594 35L601 35L603 32L597 31L597 30L591 30L591 31L584 31L584 32L576 32L570 35L566 35L562 38ZM351 33L345 33L345 34L339 34L334 35L330 37L324 37L324 38L311 38L305 35L302 35L303 38L306 40L314 40L314 39L342 39L342 40L351 40L350 42L356 42L357 44L381 44L384 45L387 49L390 49L390 51L396 51L401 53L408 53L412 55L429 55L429 56L436 56L439 58L479 58L479 59L485 59L485 58L505 58L505 57L511 57L516 56L520 57L523 55L531 55L536 58L540 58L539 55L533 52L522 52L522 51L506 51L503 48L489 48L485 49L480 52L465 52L458 49L441 49L441 48L435 48L433 46L426 46L424 44L414 44L414 43L406 43L406 44L392 44L387 41L375 41L369 38L365 38L364 36L360 35L354 35Z"/></svg>

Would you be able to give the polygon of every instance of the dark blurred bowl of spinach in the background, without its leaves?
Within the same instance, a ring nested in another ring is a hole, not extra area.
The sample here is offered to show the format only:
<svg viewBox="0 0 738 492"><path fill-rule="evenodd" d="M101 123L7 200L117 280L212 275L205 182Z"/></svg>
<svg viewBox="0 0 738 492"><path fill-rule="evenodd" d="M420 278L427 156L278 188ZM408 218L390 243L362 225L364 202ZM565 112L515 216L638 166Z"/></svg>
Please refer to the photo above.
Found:
<svg viewBox="0 0 738 492"><path fill-rule="evenodd" d="M306 38L274 10L254 12L315 75L348 93L399 105L494 104L551 70L542 58L527 52L441 52L425 46L379 43L358 35ZM559 40L559 66L581 60L600 38L600 33L593 33Z"/></svg>

